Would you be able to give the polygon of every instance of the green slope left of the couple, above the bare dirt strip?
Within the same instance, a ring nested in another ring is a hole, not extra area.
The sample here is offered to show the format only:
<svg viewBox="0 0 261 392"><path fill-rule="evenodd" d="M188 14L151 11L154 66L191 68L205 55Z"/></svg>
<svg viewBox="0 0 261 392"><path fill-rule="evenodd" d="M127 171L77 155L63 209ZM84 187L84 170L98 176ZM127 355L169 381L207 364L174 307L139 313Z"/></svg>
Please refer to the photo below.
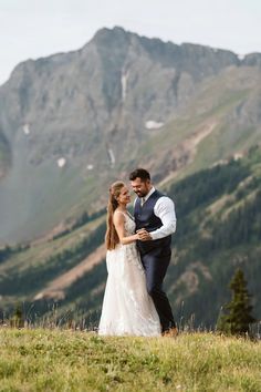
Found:
<svg viewBox="0 0 261 392"><path fill-rule="evenodd" d="M0 250L1 293L31 298L50 280L76 266L103 241L104 216L53 238Z"/></svg>

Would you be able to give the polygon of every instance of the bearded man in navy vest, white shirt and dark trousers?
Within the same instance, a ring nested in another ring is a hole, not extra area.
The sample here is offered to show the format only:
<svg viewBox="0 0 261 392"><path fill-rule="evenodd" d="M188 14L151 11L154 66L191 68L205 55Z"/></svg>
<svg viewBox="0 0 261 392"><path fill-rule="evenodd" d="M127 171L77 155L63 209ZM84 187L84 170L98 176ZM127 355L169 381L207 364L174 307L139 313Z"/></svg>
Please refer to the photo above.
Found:
<svg viewBox="0 0 261 392"><path fill-rule="evenodd" d="M168 298L163 291L163 280L171 256L171 234L176 230L175 206L169 197L155 189L146 169L137 168L130 173L129 179L138 196L134 202L134 217L147 291L158 312L163 336L175 337L178 330Z"/></svg>

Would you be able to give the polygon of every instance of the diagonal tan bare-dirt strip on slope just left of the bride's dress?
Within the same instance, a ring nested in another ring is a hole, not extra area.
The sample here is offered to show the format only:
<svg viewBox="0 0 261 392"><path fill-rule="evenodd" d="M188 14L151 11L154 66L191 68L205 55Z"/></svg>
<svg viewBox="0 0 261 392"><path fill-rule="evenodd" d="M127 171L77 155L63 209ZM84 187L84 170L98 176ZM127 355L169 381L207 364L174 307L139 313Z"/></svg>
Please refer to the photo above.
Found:
<svg viewBox="0 0 261 392"><path fill-rule="evenodd" d="M85 272L91 271L95 266L103 262L105 255L105 246L101 245L77 266L51 281L45 289L34 297L34 300L43 298L63 299L65 297L64 290L80 279Z"/></svg>

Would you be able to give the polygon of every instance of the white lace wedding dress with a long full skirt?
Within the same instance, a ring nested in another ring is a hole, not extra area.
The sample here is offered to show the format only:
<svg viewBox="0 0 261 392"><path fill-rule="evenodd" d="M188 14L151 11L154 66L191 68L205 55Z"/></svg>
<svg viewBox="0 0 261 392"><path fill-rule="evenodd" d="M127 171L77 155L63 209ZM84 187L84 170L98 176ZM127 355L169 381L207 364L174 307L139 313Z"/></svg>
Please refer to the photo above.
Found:
<svg viewBox="0 0 261 392"><path fill-rule="evenodd" d="M134 234L135 223L126 214L125 230ZM153 299L146 290L144 268L136 244L118 244L107 250L107 282L98 334L160 336L160 323Z"/></svg>

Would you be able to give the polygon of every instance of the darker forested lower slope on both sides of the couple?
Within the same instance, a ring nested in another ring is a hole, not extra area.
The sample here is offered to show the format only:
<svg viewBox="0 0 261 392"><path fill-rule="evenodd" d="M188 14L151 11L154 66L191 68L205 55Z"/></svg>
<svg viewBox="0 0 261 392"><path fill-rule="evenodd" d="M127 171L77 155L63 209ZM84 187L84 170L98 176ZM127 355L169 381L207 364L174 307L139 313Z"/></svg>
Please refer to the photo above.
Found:
<svg viewBox="0 0 261 392"><path fill-rule="evenodd" d="M166 290L179 326L215 328L238 267L260 320L261 147L164 189L175 200L178 219ZM83 215L53 238L2 248L2 313L10 314L19 301L31 322L95 327L106 280L104 234L101 212Z"/></svg>

